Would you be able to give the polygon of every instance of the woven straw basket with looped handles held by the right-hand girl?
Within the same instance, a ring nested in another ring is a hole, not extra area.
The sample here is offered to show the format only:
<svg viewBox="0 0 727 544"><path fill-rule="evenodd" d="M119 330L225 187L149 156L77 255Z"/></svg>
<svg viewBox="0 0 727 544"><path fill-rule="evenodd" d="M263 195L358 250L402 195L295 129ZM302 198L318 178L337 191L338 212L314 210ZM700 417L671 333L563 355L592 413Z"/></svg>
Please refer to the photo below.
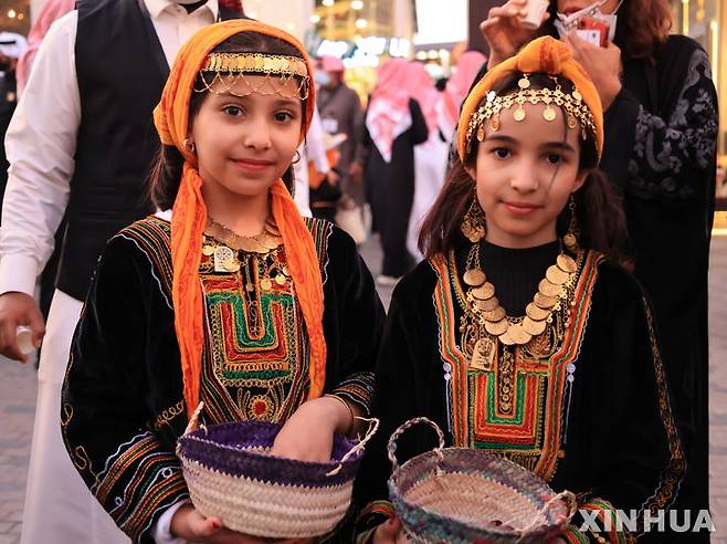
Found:
<svg viewBox="0 0 727 544"><path fill-rule="evenodd" d="M420 422L434 428L440 446L399 467L397 439ZM541 543L562 532L576 510L572 493L556 494L519 464L471 448L444 448L441 429L426 418L391 435L389 459L389 492L410 541Z"/></svg>

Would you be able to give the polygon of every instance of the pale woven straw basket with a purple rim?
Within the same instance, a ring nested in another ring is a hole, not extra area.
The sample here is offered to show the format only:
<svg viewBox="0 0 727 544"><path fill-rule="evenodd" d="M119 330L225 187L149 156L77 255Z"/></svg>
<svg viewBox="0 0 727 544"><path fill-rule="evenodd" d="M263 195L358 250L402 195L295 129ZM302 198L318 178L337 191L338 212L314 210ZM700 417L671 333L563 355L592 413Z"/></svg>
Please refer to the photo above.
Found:
<svg viewBox="0 0 727 544"><path fill-rule="evenodd" d="M334 437L333 460L317 463L267 454L281 423L235 421L191 430L197 409L177 444L194 508L241 533L309 538L333 531L351 501L364 440Z"/></svg>

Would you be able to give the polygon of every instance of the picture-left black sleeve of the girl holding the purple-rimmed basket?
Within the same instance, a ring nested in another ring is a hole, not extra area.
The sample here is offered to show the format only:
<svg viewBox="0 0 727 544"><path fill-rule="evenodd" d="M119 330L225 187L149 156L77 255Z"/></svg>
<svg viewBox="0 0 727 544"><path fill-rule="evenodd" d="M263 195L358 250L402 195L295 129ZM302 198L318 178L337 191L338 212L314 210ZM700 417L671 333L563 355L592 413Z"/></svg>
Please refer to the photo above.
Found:
<svg viewBox="0 0 727 544"><path fill-rule="evenodd" d="M61 425L96 500L135 543L149 543L159 516L188 491L173 440L151 422L147 354L159 327L149 307L161 295L138 252L116 237L99 260L71 348Z"/></svg>

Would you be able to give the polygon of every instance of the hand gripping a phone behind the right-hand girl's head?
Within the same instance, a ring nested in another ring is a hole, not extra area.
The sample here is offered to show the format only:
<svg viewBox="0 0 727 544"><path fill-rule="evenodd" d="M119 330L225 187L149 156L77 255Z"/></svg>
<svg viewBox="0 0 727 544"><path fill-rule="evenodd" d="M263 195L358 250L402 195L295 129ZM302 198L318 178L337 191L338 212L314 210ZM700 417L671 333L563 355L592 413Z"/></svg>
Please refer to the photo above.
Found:
<svg viewBox="0 0 727 544"><path fill-rule="evenodd" d="M572 32L565 35L562 41L570 46L573 59L583 66L593 81L601 97L603 111L608 109L621 91L620 76L623 72L621 50L613 42L609 42L607 48L592 45Z"/></svg>

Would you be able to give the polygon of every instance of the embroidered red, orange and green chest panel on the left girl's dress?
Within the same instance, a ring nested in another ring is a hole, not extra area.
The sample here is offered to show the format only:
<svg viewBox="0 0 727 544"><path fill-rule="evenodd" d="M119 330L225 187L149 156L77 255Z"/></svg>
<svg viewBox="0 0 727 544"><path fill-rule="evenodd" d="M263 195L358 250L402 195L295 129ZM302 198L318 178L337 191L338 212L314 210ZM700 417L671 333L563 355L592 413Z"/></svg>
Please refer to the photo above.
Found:
<svg viewBox="0 0 727 544"><path fill-rule="evenodd" d="M204 245L228 249L211 237ZM213 422L282 421L309 386L307 335L285 252L232 251L239 270L215 266L215 252L200 264L208 335L201 398Z"/></svg>

